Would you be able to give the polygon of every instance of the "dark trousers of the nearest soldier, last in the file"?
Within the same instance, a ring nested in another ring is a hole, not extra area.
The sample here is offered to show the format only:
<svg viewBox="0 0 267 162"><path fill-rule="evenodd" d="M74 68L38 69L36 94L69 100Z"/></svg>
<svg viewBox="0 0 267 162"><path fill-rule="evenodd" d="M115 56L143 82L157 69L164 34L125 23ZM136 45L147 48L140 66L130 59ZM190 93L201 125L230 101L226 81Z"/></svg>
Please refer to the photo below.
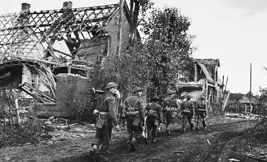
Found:
<svg viewBox="0 0 267 162"><path fill-rule="evenodd" d="M94 143L92 143L92 146L97 145L97 147L102 144L100 153L104 155L107 154L108 146L110 146L111 132L112 132L112 127L113 127L112 121L108 120L107 117L108 116L106 115L103 115L100 117L100 119L105 120L105 123L102 129L97 128L96 139Z"/></svg>

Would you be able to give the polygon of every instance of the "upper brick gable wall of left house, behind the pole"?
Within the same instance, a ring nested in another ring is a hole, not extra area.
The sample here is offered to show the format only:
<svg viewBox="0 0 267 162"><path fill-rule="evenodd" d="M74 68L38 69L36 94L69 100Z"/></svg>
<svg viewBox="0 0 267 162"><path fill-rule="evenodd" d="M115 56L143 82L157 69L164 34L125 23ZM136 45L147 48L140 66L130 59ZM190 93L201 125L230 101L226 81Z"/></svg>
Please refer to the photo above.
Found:
<svg viewBox="0 0 267 162"><path fill-rule="evenodd" d="M118 22L119 22L119 10L117 10L111 17L111 20L107 22L105 27L108 35L111 37L109 42L109 55L114 55L118 42ZM121 53L125 54L126 48L129 42L130 24L125 16L122 14L122 35L121 35Z"/></svg>

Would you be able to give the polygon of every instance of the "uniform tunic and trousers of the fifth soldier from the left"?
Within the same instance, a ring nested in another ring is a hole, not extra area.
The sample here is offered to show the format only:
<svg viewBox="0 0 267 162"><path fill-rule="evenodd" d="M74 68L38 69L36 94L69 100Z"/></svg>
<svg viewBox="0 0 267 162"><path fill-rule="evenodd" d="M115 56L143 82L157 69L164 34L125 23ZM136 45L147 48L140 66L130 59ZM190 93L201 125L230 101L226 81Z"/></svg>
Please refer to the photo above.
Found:
<svg viewBox="0 0 267 162"><path fill-rule="evenodd" d="M182 127L183 128L186 128L186 121L188 120L189 124L190 124L190 127L191 128L194 128L194 125L191 124L191 119L193 117L193 114L195 113L195 110L194 110L194 105L193 105L193 102L190 101L189 99L184 101L182 104L181 104L181 110L185 110L185 109L189 109L191 111L191 113L184 113L183 112L183 118L182 118Z"/></svg>

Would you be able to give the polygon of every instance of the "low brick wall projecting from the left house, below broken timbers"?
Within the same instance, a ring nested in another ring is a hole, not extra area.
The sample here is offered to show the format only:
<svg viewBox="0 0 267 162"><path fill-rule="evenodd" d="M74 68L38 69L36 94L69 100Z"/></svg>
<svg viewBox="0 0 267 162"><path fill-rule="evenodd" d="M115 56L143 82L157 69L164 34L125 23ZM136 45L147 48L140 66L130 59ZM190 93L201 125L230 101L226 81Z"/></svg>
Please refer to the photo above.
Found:
<svg viewBox="0 0 267 162"><path fill-rule="evenodd" d="M44 105L41 111L45 116L71 117L75 111L73 107L79 107L86 99L85 93L90 88L89 78L77 74L58 74L56 83L55 105Z"/></svg>

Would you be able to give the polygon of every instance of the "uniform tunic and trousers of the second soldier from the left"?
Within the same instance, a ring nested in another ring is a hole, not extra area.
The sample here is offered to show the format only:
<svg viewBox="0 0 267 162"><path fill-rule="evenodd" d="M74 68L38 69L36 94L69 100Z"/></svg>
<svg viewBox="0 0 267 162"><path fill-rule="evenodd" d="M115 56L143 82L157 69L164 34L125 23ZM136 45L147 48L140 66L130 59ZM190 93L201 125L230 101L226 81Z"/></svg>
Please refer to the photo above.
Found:
<svg viewBox="0 0 267 162"><path fill-rule="evenodd" d="M138 94L132 94L130 97L125 99L123 105L127 107L126 110L126 122L127 122L127 132L128 141L132 138L139 138L142 136L141 121L145 122L144 106L142 99ZM140 119L137 126L133 125L135 118Z"/></svg>

